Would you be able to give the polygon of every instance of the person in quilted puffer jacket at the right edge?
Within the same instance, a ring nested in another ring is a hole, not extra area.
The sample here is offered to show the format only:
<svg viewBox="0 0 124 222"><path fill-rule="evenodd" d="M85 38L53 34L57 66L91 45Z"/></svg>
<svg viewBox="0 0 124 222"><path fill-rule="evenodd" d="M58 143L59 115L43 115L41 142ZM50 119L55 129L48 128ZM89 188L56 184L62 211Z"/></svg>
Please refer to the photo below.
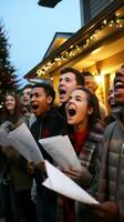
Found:
<svg viewBox="0 0 124 222"><path fill-rule="evenodd" d="M120 111L104 135L97 192L102 203L87 206L95 222L124 221L124 65L115 73L114 95Z"/></svg>

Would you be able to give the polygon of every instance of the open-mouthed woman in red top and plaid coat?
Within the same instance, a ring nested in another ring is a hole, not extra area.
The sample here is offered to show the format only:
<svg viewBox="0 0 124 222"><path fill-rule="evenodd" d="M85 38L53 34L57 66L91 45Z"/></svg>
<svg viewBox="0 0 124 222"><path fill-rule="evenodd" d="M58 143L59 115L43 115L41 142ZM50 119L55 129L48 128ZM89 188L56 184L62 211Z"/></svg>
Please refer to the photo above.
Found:
<svg viewBox="0 0 124 222"><path fill-rule="evenodd" d="M69 135L79 157L81 171L74 169L62 169L62 171L80 186L95 195L97 157L104 131L103 123L99 121L96 97L83 88L74 90L66 103L66 117L68 125L64 133ZM75 201L59 195L59 222L84 222L85 216L84 204L75 204Z"/></svg>

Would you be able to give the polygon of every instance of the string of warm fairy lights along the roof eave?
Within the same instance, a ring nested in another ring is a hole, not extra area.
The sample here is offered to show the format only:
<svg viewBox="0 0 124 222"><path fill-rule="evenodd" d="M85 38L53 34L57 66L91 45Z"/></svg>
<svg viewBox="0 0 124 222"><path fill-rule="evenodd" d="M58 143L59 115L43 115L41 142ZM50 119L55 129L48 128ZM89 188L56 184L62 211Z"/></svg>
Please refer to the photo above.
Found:
<svg viewBox="0 0 124 222"><path fill-rule="evenodd" d="M89 33L87 38L80 44L71 46L68 51L62 52L55 57L52 61L49 61L42 68L37 71L38 77L41 77L49 72L53 65L63 64L65 61L71 60L74 56L81 53L82 51L86 50L92 41L95 41L97 38L99 32L101 32L106 26L113 28L123 28L124 26L124 18L115 16L113 19L107 21L106 19L102 21L100 28L95 29L92 33ZM96 53L97 51L94 50L92 53Z"/></svg>

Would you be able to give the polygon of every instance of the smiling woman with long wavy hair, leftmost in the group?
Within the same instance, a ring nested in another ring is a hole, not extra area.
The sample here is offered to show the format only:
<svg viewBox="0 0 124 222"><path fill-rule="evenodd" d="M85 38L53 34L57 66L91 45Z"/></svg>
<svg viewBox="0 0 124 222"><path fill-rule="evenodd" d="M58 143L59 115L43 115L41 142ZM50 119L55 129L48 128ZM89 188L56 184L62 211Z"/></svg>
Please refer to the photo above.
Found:
<svg viewBox="0 0 124 222"><path fill-rule="evenodd" d="M8 92L0 128L10 132L23 122L20 98L13 92ZM35 205L32 203L30 194L32 180L27 173L25 159L10 145L2 147L0 151L4 171L2 175L7 181L6 184L2 184L6 221L19 222L22 218L27 222L37 221Z"/></svg>

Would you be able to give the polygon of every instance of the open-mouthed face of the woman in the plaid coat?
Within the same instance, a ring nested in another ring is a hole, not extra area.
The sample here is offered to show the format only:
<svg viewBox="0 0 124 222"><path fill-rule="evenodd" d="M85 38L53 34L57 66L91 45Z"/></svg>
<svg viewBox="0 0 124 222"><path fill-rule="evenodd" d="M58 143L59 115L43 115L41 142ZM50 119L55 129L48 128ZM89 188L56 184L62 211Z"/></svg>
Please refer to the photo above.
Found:
<svg viewBox="0 0 124 222"><path fill-rule="evenodd" d="M93 108L87 104L87 94L80 89L71 93L65 109L68 123L82 125L82 128L87 124L89 114L93 111Z"/></svg>

